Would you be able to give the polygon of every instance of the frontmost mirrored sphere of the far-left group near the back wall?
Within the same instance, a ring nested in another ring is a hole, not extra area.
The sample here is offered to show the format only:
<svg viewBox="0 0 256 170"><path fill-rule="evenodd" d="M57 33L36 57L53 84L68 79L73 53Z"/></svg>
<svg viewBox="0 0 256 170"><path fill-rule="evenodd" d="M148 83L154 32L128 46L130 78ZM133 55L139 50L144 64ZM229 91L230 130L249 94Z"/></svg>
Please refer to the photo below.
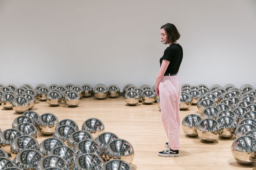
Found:
<svg viewBox="0 0 256 170"><path fill-rule="evenodd" d="M29 101L25 97L16 97L12 101L12 109L16 113L24 113L25 111L28 111L29 109Z"/></svg>

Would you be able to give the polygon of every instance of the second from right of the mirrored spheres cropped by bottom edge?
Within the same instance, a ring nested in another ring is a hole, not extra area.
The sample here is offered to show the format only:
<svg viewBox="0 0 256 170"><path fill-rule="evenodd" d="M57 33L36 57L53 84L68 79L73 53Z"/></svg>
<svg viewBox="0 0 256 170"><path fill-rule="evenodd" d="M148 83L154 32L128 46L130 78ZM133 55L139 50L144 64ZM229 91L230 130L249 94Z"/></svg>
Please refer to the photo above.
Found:
<svg viewBox="0 0 256 170"><path fill-rule="evenodd" d="M92 153L80 155L73 164L72 170L102 170L104 161Z"/></svg>

